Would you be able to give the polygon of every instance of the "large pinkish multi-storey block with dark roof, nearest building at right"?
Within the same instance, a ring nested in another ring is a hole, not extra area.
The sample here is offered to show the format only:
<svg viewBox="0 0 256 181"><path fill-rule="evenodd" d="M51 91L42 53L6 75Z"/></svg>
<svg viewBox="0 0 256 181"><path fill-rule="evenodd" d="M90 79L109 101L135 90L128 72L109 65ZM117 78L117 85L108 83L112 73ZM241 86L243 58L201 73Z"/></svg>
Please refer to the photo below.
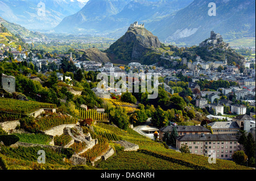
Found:
<svg viewBox="0 0 256 181"><path fill-rule="evenodd" d="M214 151L216 158L232 159L234 152L238 150L238 140L235 137L225 134L192 134L177 137L176 148L181 145L188 145L193 154L205 155L210 157Z"/></svg>

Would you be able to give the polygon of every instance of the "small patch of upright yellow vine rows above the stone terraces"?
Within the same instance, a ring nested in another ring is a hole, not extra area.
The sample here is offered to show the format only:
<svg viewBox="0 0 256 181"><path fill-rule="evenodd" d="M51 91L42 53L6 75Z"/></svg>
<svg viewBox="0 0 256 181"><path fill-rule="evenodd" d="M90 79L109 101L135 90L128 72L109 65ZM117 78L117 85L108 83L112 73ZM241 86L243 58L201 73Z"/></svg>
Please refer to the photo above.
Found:
<svg viewBox="0 0 256 181"><path fill-rule="evenodd" d="M92 119L98 121L108 121L109 120L109 113L99 113L96 110L84 110L79 109L79 117L82 119Z"/></svg>

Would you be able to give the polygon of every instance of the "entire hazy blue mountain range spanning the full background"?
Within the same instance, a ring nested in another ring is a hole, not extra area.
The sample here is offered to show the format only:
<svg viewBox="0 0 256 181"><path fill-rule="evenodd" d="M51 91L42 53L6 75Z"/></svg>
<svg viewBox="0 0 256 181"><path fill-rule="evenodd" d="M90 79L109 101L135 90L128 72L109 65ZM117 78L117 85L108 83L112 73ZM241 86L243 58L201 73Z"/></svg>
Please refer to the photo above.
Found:
<svg viewBox="0 0 256 181"><path fill-rule="evenodd" d="M164 43L198 45L209 32L229 43L255 41L255 1L252 0L0 0L0 16L29 30L91 34L119 39L138 21ZM209 16L210 2L216 16Z"/></svg>

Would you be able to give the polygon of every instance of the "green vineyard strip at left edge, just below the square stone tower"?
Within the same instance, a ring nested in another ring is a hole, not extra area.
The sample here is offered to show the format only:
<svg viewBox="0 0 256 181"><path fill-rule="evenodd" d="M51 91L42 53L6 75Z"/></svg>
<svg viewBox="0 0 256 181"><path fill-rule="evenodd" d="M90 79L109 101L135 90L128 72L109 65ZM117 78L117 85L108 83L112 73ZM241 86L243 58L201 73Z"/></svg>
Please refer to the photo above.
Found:
<svg viewBox="0 0 256 181"><path fill-rule="evenodd" d="M57 108L55 104L0 98L0 111L27 114L40 108Z"/></svg>

